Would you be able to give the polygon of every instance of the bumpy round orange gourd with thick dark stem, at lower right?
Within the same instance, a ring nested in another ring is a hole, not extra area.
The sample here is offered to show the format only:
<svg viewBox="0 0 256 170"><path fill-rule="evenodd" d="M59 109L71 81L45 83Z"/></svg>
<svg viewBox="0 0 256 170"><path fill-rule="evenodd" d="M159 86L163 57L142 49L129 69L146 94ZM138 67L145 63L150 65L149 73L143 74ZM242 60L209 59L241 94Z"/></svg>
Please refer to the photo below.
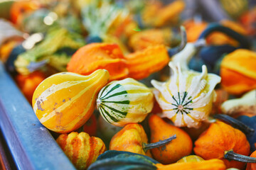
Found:
<svg viewBox="0 0 256 170"><path fill-rule="evenodd" d="M193 150L203 159L221 159L227 168L243 169L245 166L243 162L248 162L246 156L250 154L250 144L240 130L217 121L198 137ZM239 157L246 158L242 160Z"/></svg>

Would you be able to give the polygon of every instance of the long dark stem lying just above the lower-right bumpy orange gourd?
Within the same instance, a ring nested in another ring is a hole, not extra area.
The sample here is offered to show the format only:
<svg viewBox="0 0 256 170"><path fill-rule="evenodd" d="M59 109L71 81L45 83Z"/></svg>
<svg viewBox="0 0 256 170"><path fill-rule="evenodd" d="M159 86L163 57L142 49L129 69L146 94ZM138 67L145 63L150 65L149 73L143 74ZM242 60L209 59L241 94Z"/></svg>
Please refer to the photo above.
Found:
<svg viewBox="0 0 256 170"><path fill-rule="evenodd" d="M235 118L230 117L229 115L217 114L217 115L213 115L213 118L218 118L220 120L224 120L225 122L230 123L234 128L237 128L237 129L241 130L245 134L250 134L252 132L255 132L254 129L252 129L249 126L245 125L241 121L236 120Z"/></svg>

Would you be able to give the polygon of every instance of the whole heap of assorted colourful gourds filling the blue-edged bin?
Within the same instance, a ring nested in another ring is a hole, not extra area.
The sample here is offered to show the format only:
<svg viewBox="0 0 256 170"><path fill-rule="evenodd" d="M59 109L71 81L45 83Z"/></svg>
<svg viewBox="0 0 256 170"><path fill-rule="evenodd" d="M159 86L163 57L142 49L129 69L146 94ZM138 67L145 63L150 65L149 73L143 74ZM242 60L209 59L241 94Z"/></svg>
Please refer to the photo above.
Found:
<svg viewBox="0 0 256 170"><path fill-rule="evenodd" d="M76 169L256 169L256 3L208 2L13 1L0 60Z"/></svg>

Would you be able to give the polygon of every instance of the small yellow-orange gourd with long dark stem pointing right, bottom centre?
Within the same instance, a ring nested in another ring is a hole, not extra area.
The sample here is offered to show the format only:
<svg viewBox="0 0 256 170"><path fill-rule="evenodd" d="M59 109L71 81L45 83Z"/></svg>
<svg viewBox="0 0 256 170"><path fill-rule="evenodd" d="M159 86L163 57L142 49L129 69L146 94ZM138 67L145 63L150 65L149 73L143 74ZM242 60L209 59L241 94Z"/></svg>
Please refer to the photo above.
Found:
<svg viewBox="0 0 256 170"><path fill-rule="evenodd" d="M174 139L176 139L176 135L165 140L148 144L146 132L142 125L130 123L125 125L122 130L112 137L110 150L127 151L152 157L151 153L148 151L149 149L166 145Z"/></svg>

